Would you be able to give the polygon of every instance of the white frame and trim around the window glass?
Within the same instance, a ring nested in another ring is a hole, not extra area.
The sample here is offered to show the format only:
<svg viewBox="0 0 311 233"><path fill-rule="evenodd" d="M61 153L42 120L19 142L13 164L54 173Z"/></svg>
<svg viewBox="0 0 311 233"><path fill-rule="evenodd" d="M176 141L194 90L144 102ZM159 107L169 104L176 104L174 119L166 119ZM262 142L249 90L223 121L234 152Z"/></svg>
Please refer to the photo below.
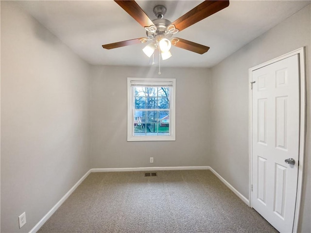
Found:
<svg viewBox="0 0 311 233"><path fill-rule="evenodd" d="M133 86L135 84L140 85L170 85L170 135L148 135L134 136L134 91ZM127 78L127 141L175 141L175 91L176 91L176 80L165 79L165 78Z"/></svg>

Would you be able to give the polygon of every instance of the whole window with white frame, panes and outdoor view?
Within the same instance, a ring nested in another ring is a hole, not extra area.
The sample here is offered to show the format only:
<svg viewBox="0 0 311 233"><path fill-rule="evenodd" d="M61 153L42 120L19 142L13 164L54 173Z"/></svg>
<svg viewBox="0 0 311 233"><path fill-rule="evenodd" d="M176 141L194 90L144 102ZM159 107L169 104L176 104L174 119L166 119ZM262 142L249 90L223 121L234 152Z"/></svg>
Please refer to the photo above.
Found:
<svg viewBox="0 0 311 233"><path fill-rule="evenodd" d="M175 79L127 79L127 141L175 140Z"/></svg>

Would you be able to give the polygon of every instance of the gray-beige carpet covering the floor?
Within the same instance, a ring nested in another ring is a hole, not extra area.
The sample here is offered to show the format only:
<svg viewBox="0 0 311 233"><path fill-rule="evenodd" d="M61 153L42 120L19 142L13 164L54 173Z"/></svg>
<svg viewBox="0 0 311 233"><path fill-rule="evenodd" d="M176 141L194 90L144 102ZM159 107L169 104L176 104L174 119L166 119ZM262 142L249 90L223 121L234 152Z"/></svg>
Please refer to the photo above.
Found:
<svg viewBox="0 0 311 233"><path fill-rule="evenodd" d="M91 173L39 233L277 232L209 170Z"/></svg>

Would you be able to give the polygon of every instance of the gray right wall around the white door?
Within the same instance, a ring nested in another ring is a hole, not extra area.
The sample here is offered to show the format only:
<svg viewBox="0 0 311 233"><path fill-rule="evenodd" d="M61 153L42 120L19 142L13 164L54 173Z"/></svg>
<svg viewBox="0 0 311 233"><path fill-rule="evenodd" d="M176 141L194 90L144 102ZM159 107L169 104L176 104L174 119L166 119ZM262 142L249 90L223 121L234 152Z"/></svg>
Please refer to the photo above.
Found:
<svg viewBox="0 0 311 233"><path fill-rule="evenodd" d="M211 69L209 166L248 198L248 69L306 46L307 138L299 232L311 232L310 5Z"/></svg>

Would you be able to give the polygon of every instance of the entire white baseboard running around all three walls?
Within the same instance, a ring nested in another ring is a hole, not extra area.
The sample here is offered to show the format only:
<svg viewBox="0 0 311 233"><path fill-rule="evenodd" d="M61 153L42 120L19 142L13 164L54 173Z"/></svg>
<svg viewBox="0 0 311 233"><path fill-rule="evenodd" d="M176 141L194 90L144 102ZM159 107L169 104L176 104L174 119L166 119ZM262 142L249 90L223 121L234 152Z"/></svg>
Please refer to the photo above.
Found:
<svg viewBox="0 0 311 233"><path fill-rule="evenodd" d="M54 214L54 212L69 198L70 194L79 186L80 183L86 179L91 172L112 172L112 171L163 171L163 170L210 170L218 179L220 179L225 185L234 192L242 201L249 206L249 200L245 198L238 190L236 190L230 183L228 183L221 175L219 175L210 166L159 166L159 167L127 167L127 168L92 168L86 172L86 174L73 185L72 188L59 200L52 209L35 225L35 227L29 233L36 233L43 224Z"/></svg>

